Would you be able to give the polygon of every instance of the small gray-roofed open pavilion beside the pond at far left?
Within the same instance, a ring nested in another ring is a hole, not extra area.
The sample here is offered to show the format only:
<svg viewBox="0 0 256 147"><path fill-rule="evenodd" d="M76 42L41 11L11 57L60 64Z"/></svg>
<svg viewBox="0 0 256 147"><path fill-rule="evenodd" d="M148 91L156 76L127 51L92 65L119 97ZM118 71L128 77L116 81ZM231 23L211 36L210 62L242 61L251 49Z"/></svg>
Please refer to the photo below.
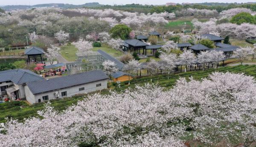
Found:
<svg viewBox="0 0 256 147"><path fill-rule="evenodd" d="M34 57L35 58L35 61L36 61L36 58L37 57L40 57L41 58L41 63L43 63L43 60L42 60L42 55L44 54L44 49L41 49L39 47L31 47L31 48L28 48L25 50L24 52L24 55L27 55L28 56L28 62L30 62L30 58L31 57Z"/></svg>

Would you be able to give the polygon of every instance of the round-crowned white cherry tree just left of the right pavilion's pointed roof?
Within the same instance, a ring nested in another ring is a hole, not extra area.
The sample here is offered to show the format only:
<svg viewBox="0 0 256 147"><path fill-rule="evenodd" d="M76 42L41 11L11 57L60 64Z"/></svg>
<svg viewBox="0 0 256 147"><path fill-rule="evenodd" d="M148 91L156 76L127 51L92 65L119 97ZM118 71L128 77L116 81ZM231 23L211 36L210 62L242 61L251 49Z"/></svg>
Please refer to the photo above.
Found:
<svg viewBox="0 0 256 147"><path fill-rule="evenodd" d="M186 72L187 66L191 66L195 62L195 55L191 50L184 50L184 52L180 54L179 60L181 64L186 65Z"/></svg>

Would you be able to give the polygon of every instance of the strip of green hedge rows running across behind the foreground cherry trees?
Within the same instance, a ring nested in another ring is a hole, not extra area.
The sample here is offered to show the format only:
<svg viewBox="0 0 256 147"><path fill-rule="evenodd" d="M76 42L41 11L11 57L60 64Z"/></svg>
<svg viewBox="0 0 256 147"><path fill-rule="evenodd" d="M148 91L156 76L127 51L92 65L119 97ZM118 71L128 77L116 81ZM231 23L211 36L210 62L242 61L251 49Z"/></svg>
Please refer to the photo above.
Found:
<svg viewBox="0 0 256 147"><path fill-rule="evenodd" d="M232 66L232 67L222 67L218 69L207 69L204 72L203 71L195 71L195 72L182 72L179 74L172 74L170 75L170 79L167 78L167 75L155 75L152 77L152 82L155 84L158 84L160 86L166 87L166 88L172 88L173 85L175 85L175 82L180 77L189 78L192 76L193 78L200 80L201 78L207 77L210 73L214 71L220 71L220 72L234 72L234 73L240 73L244 72L246 75L252 75L256 77L256 66ZM111 89L116 89L118 91L122 89L126 89L128 87L134 87L135 84L144 85L145 83L150 82L151 77L143 77L143 78L137 78L131 80L131 85L127 85L128 82L122 82L121 88L117 88L116 84L109 84ZM108 90L102 90L102 94L108 93ZM65 98L60 100L51 100L52 106L56 110L64 110L66 107L76 104L77 101L82 100L82 96L74 96L73 98ZM34 104L32 106L28 106L24 102L7 102L0 104L0 123L5 122L5 118L15 118L18 120L23 120L23 118L28 118L31 116L38 116L37 111L43 109L44 103L38 103Z"/></svg>

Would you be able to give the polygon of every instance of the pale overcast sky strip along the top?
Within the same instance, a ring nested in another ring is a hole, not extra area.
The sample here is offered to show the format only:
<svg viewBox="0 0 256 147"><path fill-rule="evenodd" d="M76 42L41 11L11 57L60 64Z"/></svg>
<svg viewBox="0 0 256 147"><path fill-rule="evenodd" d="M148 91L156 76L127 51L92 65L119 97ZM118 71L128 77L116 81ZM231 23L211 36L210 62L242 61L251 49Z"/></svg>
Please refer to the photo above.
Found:
<svg viewBox="0 0 256 147"><path fill-rule="evenodd" d="M162 5L168 2L178 3L203 3L203 2L219 2L219 3L247 3L256 0L0 0L0 5L35 5L42 3L69 3L84 4L90 2L99 2L100 4L131 4L140 3L148 5Z"/></svg>

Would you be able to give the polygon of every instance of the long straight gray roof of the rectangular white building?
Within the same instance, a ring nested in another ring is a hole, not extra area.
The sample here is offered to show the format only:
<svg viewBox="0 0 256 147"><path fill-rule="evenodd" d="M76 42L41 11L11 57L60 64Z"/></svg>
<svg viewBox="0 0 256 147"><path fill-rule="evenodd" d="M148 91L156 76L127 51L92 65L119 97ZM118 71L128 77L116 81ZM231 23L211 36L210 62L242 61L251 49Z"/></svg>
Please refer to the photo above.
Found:
<svg viewBox="0 0 256 147"><path fill-rule="evenodd" d="M52 78L49 80L29 82L27 83L27 86L35 95L43 92L54 91L57 89L63 89L105 79L108 79L108 76L102 70L93 70L59 78Z"/></svg>

